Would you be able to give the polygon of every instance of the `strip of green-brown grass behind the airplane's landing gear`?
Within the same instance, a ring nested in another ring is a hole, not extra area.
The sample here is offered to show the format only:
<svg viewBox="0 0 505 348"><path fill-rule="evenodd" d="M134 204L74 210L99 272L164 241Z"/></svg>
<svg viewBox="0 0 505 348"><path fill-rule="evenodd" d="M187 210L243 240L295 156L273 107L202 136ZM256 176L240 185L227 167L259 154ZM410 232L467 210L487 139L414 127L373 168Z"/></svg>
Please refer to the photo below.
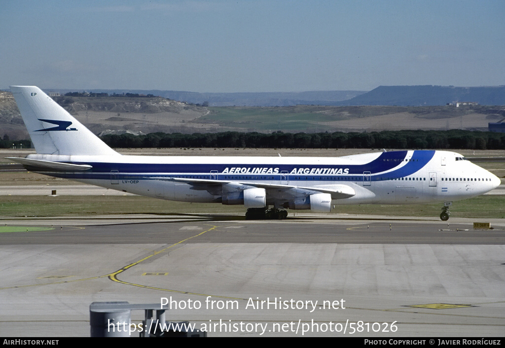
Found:
<svg viewBox="0 0 505 348"><path fill-rule="evenodd" d="M458 202L450 208L453 218L505 218L505 196L484 195ZM433 216L438 217L442 204L417 205L342 205L333 213ZM236 213L244 214L241 205L182 203L141 196L4 196L0 217L92 216L103 214L181 214ZM310 212L310 210L288 210Z"/></svg>

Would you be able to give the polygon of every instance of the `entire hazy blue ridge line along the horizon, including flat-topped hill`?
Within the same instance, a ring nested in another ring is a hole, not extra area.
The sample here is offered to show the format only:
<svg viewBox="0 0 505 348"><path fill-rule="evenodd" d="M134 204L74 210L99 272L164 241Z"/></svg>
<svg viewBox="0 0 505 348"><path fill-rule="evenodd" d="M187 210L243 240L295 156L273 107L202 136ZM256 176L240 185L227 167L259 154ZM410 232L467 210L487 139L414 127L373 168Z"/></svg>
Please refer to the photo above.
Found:
<svg viewBox="0 0 505 348"><path fill-rule="evenodd" d="M75 92L68 89L44 89L45 92ZM82 92L82 91L81 91ZM476 102L479 105L505 105L505 85L485 87L455 86L379 86L364 91L312 91L263 93L198 93L161 90L104 90L86 92L154 95L197 106L445 106L447 103Z"/></svg>

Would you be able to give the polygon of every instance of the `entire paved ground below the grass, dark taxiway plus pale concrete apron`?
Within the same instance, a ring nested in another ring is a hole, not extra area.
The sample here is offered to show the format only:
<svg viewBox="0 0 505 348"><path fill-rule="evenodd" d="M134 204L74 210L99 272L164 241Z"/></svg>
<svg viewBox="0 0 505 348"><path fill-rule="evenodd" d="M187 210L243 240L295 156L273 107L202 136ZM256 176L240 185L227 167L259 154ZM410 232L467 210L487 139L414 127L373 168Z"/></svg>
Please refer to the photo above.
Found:
<svg viewBox="0 0 505 348"><path fill-rule="evenodd" d="M88 336L93 301L167 297L201 305L167 320L266 327L209 336L301 336L307 325L304 336L502 336L505 220L473 230L470 219L336 215L3 219L54 230L0 233L0 335ZM318 306L251 307L267 299Z"/></svg>

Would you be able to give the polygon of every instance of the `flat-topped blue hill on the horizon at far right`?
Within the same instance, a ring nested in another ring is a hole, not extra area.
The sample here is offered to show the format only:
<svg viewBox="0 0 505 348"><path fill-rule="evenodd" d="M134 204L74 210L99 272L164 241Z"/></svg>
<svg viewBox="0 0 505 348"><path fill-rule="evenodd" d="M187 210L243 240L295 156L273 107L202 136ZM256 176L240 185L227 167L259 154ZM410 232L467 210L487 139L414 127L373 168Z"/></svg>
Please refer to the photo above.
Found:
<svg viewBox="0 0 505 348"><path fill-rule="evenodd" d="M379 86L368 93L332 105L437 106L456 102L505 105L505 85L491 87Z"/></svg>

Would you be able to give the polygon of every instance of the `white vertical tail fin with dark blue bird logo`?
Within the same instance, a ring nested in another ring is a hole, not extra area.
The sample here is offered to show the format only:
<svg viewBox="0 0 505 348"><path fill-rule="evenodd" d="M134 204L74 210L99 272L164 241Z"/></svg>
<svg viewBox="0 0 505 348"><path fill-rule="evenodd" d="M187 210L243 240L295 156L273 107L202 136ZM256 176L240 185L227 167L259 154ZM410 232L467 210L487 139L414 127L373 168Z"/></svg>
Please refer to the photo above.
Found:
<svg viewBox="0 0 505 348"><path fill-rule="evenodd" d="M39 154L118 155L36 86L11 86Z"/></svg>

